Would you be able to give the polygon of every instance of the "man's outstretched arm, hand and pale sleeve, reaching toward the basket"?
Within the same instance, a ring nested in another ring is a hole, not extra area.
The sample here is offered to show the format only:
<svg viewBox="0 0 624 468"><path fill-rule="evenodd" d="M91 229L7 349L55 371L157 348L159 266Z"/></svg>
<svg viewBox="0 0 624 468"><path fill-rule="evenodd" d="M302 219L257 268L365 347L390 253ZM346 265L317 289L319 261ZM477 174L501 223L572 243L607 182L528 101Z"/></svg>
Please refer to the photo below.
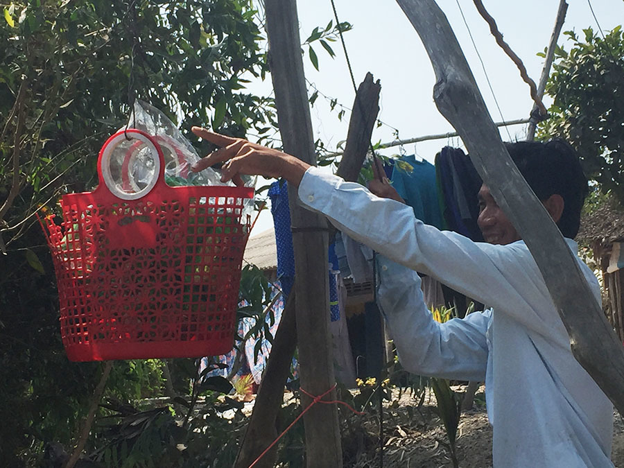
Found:
<svg viewBox="0 0 624 468"><path fill-rule="evenodd" d="M279 150L197 127L193 132L221 146L193 170L225 162L223 180L236 182L241 174L284 177L299 187L306 207L327 216L356 241L569 346L560 318L551 313L551 296L526 245L474 243L453 232L440 232L415 219L410 207L376 197L359 184L324 174Z"/></svg>

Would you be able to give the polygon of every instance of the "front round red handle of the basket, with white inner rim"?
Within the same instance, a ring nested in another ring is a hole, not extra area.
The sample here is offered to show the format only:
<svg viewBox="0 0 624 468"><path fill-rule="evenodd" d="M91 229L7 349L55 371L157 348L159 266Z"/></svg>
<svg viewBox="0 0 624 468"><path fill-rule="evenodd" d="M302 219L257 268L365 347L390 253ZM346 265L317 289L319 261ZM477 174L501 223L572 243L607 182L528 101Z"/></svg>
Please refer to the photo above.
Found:
<svg viewBox="0 0 624 468"><path fill-rule="evenodd" d="M142 141L143 144L148 147L155 167L154 175L146 187L136 192L128 192L119 189L110 173L110 159L113 151L119 144L123 141L127 141L128 139ZM135 128L119 130L119 132L116 132L106 140L100 150L100 155L98 157L98 177L100 179L100 187L105 185L112 195L117 198L121 198L122 200L137 200L138 198L142 198L150 193L159 181L164 183L164 166L164 155L162 153L162 149L153 137L150 137L150 135L146 134L146 132L141 132L141 130L137 130Z"/></svg>

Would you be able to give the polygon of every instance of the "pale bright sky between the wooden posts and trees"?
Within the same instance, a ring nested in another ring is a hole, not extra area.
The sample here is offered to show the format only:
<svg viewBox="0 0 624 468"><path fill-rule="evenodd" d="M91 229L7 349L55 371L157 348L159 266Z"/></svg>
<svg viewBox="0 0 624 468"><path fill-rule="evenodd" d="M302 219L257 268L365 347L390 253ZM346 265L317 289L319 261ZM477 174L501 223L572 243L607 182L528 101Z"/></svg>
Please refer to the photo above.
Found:
<svg viewBox="0 0 624 468"><path fill-rule="evenodd" d="M433 85L435 76L431 62L426 55L413 26L395 1L381 0L334 0L340 21L349 21L353 30L345 33L347 52L351 60L356 84L359 85L365 73L373 73L375 80L381 80L381 99L379 119L390 126L382 125L375 128L372 141L391 141L394 139L392 128L399 130L401 139L422 135L451 132L453 128L437 111L433 103ZM472 72L480 87L481 94L494 121L501 121L501 113L496 108L492 92L485 80L468 30L456 0L438 0L438 5L447 15L449 22L462 46ZM496 44L489 33L487 23L480 17L474 3L459 0L466 17L467 24L476 42L476 46L485 64L487 76L492 83L496 100L501 107L505 120L528 117L532 107L529 87L524 83L515 64ZM528 70L528 75L539 81L543 59L537 53L548 46L559 1L493 1L484 0L485 8L496 19L499 31L503 33L505 42L519 55ZM591 15L587 0L569 0L566 21L562 31L575 30L582 35L582 29L591 26L598 32L596 20ZM300 35L304 41L315 26L325 26L333 19L331 2L298 1L300 19ZM603 31L614 28L624 22L624 1L622 0L591 0L591 6ZM563 34L559 44L569 49L570 41ZM304 68L306 78L339 104L351 107L354 90L347 62L340 42L332 42L336 57L331 59L320 44L315 45L319 58L319 71L316 71L304 48ZM270 77L265 83L254 83L254 92L270 92ZM310 92L311 93L311 92ZM546 107L549 101L546 98ZM337 107L340 107L338 105ZM311 108L314 137L320 138L330 150L347 135L349 112L343 121L338 121L337 112L329 111L329 103L319 96ZM392 128L390 128L392 127ZM515 125L508 128L512 139L524 139L526 125ZM506 130L501 129L503 140L509 140ZM433 161L435 153L442 146L462 146L460 139L444 139L422 142L406 146L408 154L417 155ZM399 148L384 150L383 154L399 153ZM254 227L254 234L259 234L272 226L270 213L266 210L261 214Z"/></svg>

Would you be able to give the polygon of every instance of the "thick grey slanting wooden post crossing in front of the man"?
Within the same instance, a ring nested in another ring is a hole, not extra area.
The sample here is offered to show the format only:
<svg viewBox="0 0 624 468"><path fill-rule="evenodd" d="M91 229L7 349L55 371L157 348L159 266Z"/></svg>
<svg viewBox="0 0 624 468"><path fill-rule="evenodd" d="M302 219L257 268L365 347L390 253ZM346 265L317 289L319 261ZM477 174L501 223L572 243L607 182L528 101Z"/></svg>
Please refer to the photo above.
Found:
<svg viewBox="0 0 624 468"><path fill-rule="evenodd" d="M433 0L397 0L433 64L438 110L462 137L475 168L535 259L574 357L624 415L624 347L563 236L501 141L447 17Z"/></svg>

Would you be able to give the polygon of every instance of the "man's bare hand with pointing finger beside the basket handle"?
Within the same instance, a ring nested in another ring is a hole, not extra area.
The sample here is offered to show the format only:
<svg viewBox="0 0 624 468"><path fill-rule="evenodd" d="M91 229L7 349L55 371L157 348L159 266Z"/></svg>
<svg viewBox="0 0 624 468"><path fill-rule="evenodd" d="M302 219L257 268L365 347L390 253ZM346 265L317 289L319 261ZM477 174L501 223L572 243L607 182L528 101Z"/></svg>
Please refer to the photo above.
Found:
<svg viewBox="0 0 624 468"><path fill-rule="evenodd" d="M225 162L221 168L222 182L232 180L234 184L242 186L241 174L247 174L284 177L289 184L299 187L304 173L310 167L294 156L242 138L227 137L200 127L193 127L191 130L198 137L220 146L214 153L193 164L191 171L199 172L218 162Z"/></svg>

